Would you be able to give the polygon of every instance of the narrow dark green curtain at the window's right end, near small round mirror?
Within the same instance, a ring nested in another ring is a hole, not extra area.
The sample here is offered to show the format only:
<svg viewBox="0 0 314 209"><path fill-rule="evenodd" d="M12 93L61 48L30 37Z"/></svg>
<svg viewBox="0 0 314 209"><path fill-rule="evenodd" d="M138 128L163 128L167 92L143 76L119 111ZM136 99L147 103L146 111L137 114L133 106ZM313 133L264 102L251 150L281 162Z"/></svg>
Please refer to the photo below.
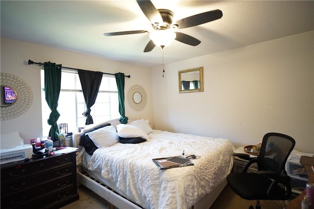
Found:
<svg viewBox="0 0 314 209"><path fill-rule="evenodd" d="M121 115L120 122L122 124L128 123L128 117L126 117L125 108L124 108L124 73L118 72L115 73L117 87L118 87L118 96L119 96L119 113Z"/></svg>

